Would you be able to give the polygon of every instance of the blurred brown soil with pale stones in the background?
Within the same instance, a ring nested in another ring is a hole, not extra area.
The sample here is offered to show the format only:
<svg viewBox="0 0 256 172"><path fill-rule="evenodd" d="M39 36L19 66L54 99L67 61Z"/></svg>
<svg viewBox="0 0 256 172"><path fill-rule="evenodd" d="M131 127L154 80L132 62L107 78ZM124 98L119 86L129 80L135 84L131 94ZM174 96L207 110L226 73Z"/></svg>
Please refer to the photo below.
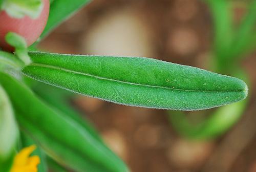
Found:
<svg viewBox="0 0 256 172"><path fill-rule="evenodd" d="M242 1L241 1L242 2ZM239 2L238 2L239 3ZM243 10L234 9L239 20ZM56 53L143 56L207 69L212 22L199 0L94 0L40 44ZM131 171L256 171L256 54L242 62L251 79L240 122L216 140L179 136L167 111L78 96L72 103Z"/></svg>

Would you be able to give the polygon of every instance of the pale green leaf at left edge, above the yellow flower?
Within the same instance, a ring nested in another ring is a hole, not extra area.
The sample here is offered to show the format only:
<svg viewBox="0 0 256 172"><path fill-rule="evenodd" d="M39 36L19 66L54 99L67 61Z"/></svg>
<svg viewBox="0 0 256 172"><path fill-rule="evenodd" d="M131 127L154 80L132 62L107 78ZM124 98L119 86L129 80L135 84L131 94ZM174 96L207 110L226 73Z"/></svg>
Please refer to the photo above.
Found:
<svg viewBox="0 0 256 172"><path fill-rule="evenodd" d="M0 85L0 169L9 171L15 156L18 129L12 105Z"/></svg>

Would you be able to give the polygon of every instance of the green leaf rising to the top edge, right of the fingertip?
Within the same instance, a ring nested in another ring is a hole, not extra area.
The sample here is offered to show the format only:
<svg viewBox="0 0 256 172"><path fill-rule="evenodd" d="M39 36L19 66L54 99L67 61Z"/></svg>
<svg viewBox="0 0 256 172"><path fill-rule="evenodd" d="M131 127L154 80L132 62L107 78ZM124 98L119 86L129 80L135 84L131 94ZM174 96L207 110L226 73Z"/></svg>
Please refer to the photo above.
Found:
<svg viewBox="0 0 256 172"><path fill-rule="evenodd" d="M44 38L50 31L56 28L77 10L88 4L91 0L54 0L51 2L48 22L40 38Z"/></svg>

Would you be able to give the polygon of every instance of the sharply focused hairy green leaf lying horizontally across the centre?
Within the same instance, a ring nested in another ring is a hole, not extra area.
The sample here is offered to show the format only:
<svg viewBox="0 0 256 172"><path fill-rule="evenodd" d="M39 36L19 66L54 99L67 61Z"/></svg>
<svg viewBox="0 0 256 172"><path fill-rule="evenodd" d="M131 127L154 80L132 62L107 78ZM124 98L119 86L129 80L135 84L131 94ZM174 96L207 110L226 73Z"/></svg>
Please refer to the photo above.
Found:
<svg viewBox="0 0 256 172"><path fill-rule="evenodd" d="M247 96L240 79L141 57L29 54L24 74L104 100L173 110L202 110Z"/></svg>

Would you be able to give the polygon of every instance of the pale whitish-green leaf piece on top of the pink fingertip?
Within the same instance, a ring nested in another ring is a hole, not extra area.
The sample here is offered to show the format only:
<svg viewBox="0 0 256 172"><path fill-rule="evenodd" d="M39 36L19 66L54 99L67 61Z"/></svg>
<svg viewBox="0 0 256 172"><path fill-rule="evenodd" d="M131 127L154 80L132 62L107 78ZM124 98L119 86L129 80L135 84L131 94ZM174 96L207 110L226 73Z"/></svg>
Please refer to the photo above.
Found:
<svg viewBox="0 0 256 172"><path fill-rule="evenodd" d="M37 18L42 7L41 0L4 0L1 9L5 10L11 17L23 18L27 15L31 18Z"/></svg>

